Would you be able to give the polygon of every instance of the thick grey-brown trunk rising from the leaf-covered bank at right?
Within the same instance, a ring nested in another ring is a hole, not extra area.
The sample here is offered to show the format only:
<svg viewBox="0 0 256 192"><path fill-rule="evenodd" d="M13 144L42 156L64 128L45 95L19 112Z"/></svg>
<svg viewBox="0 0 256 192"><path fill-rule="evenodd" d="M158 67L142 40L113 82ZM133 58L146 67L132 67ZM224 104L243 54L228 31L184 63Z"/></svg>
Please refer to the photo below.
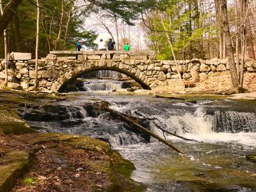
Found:
<svg viewBox="0 0 256 192"><path fill-rule="evenodd" d="M215 2L217 2L217 4L220 6L220 10L221 10L222 25L223 25L224 33L226 36L226 46L227 46L227 52L228 52L228 61L229 61L229 67L230 67L231 81L232 81L234 89L237 92L241 92L242 87L240 87L240 84L238 82L232 41L231 41L229 25L228 25L227 1L226 0L215 0Z"/></svg>

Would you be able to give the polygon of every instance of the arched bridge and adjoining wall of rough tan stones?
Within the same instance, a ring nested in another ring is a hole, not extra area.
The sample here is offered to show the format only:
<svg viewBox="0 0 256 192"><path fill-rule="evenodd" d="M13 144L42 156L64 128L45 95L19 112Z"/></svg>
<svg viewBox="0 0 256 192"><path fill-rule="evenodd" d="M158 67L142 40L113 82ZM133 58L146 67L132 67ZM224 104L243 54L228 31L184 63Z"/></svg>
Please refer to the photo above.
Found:
<svg viewBox="0 0 256 192"><path fill-rule="evenodd" d="M74 57L77 56L76 60ZM0 65L0 78L2 79L5 77L4 62L2 60ZM84 73L103 69L126 74L145 89L175 83L175 79L179 78L178 70L182 74L182 78L189 79L191 78L191 69L196 68L201 81L205 81L209 76L217 76L217 71L219 75L230 74L227 59L178 60L178 63L177 69L174 61L156 60L154 52L51 52L46 59L39 61L39 90L58 91L62 86L74 81ZM30 87L34 86L34 60L11 60L9 66L10 82L15 82L15 86L19 89L30 90ZM244 70L255 72L256 61L247 60Z"/></svg>

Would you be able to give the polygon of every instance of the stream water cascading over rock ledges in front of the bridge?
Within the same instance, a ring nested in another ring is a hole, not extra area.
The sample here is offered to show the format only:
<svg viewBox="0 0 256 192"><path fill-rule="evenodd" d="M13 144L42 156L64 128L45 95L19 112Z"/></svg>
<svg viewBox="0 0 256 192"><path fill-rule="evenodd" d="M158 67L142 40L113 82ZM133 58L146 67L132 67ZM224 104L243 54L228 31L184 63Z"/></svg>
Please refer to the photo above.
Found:
<svg viewBox="0 0 256 192"><path fill-rule="evenodd" d="M102 90L102 81L93 83L92 91ZM116 89L116 82L107 82L105 86L109 87L107 84ZM146 185L147 191L256 191L256 166L245 159L247 153L256 150L255 102L204 97L182 101L92 91L58 103L68 109L68 119L29 124L41 132L83 134L108 141L134 163L132 178ZM90 117L85 106L97 100L108 101L111 108L122 113L136 116L134 112L138 111L157 118L166 130L199 142L163 135L155 125L159 122L151 121L151 131L171 140L186 155L153 138L146 143L129 131L126 123L109 118L107 113Z"/></svg>

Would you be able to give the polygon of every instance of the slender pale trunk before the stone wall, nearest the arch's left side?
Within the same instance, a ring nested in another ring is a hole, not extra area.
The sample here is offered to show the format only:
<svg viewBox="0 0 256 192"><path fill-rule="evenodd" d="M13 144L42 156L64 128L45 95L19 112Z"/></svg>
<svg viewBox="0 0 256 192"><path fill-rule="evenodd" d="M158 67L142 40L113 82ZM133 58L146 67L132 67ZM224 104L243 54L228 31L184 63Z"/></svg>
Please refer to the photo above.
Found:
<svg viewBox="0 0 256 192"><path fill-rule="evenodd" d="M39 45L39 21L40 21L40 7L39 0L36 0L37 18L36 18L36 65L35 65L35 89L38 85L38 45Z"/></svg>

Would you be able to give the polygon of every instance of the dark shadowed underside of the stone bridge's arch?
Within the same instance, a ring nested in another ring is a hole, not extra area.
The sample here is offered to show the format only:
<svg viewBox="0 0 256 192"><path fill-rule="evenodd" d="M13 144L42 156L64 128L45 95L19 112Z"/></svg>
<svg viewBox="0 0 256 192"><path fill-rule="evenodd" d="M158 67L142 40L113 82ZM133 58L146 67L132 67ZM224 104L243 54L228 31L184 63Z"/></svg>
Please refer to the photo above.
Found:
<svg viewBox="0 0 256 192"><path fill-rule="evenodd" d="M71 77L70 79L68 79L67 81L65 81L59 88L59 92L65 92L66 90L66 87L68 86L68 84L71 84L73 82L76 82L76 79L85 75L85 74L89 74L89 73L92 73L94 71L101 71L101 70L108 70L108 71L116 71L116 72L119 72L121 74L124 74L126 75L127 77L130 77L131 79L133 79L135 82L137 82L138 84L141 85L141 87L143 89L146 89L146 90L150 90L150 87L144 83L143 81L141 81L140 78L138 78L137 76L129 73L128 71L126 70L122 70L122 69L119 69L119 68L114 68L114 67L94 67L94 68L91 68L91 69L87 69L87 70L84 70L84 71L81 71L80 73L77 73L75 74L73 77Z"/></svg>

